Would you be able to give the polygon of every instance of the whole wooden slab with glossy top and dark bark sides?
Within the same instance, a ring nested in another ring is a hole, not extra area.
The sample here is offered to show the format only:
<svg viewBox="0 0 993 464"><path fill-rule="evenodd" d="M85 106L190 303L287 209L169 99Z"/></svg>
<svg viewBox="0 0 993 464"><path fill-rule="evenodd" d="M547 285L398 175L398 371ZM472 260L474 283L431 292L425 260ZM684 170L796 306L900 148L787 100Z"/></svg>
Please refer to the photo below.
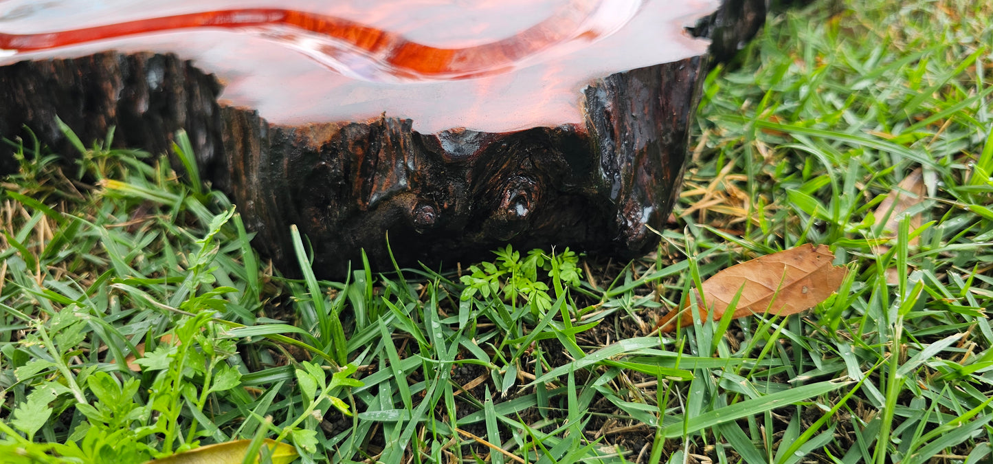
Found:
<svg viewBox="0 0 993 464"><path fill-rule="evenodd" d="M400 265L438 266L503 243L651 248L710 63L692 33L720 36L726 56L765 18L764 1L577 0L490 27L514 15L481 2L459 13L459 36L438 33L439 12L398 23L360 2L328 12L184 0L38 29L44 7L7 3L0 136L30 130L71 154L58 116L84 143L115 127L115 145L165 153L183 129L253 244L292 274L297 225L324 277L363 249L385 270L390 249ZM534 9L525 3L509 5ZM9 172L12 152L0 150Z"/></svg>

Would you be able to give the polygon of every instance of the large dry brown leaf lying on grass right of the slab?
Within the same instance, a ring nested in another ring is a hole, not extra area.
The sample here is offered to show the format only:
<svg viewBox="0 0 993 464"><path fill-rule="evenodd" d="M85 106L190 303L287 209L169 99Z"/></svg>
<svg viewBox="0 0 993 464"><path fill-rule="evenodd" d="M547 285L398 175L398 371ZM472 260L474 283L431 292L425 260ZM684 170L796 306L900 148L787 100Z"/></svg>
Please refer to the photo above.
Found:
<svg viewBox="0 0 993 464"><path fill-rule="evenodd" d="M738 290L742 295L734 318L753 313L786 316L812 308L827 299L841 286L848 269L831 264L834 254L827 245L804 244L778 253L767 254L724 269L701 285L707 306L712 308L714 320L720 319L731 304ZM742 288L744 286L744 288ZM699 304L694 290L700 319L707 313ZM680 315L680 325L693 324L689 304L681 311L670 311L658 320L656 327L662 332L675 330L675 316Z"/></svg>

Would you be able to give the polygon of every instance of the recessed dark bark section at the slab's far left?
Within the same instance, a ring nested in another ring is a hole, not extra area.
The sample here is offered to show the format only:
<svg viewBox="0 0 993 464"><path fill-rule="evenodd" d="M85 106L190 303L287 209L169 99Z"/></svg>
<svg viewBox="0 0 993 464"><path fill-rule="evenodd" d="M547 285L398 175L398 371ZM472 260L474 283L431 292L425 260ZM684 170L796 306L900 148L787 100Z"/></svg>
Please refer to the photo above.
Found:
<svg viewBox="0 0 993 464"><path fill-rule="evenodd" d="M173 56L104 53L74 60L20 62L0 67L0 137L33 136L52 152L78 156L56 122L61 118L83 141L167 153L186 129L202 160L219 153L216 101L220 85ZM11 147L0 144L0 173L17 169ZM178 166L178 164L177 164Z"/></svg>

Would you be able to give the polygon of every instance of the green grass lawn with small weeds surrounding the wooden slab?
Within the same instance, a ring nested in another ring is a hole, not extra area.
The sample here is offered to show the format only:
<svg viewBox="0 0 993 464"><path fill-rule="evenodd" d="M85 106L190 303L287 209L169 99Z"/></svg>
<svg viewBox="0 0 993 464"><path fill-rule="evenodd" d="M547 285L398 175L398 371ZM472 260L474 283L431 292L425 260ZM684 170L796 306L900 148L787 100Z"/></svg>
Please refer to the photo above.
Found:
<svg viewBox="0 0 993 464"><path fill-rule="evenodd" d="M505 248L461 275L328 282L299 237L305 278L285 279L164 158L80 142L69 169L26 141L0 205L0 452L989 462L991 17L846 0L770 18L708 77L677 220L632 263ZM879 211L919 168L922 200ZM707 276L805 242L851 269L814 310L652 332Z"/></svg>

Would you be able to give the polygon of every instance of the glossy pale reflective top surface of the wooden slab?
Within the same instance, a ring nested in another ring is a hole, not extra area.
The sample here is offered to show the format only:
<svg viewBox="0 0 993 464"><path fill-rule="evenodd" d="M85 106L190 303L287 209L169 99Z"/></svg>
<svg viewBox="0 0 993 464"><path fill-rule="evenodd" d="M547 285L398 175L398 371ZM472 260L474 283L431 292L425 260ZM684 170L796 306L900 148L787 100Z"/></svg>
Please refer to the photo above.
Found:
<svg viewBox="0 0 993 464"><path fill-rule="evenodd" d="M0 65L150 50L191 59L270 121L415 129L580 123L592 78L703 52L716 0L0 0ZM287 50L298 53L287 53Z"/></svg>

